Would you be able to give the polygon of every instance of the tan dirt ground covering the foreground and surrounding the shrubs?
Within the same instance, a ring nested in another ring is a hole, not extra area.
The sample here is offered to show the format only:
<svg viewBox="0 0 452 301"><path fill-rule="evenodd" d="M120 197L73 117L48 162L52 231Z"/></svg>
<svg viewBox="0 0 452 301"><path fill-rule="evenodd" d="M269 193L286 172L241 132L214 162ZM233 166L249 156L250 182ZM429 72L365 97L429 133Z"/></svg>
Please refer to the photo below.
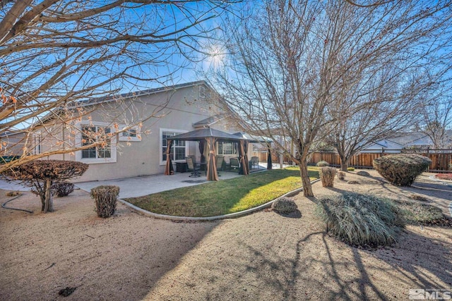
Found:
<svg viewBox="0 0 452 301"><path fill-rule="evenodd" d="M347 191L428 197L450 214L452 185L420 177L396 188L374 171L348 184L314 184L316 197ZM0 202L6 197L0 190ZM452 229L408 226L394 247L369 251L329 237L311 199L297 214L259 211L239 219L176 223L119 204L97 218L87 192L40 212L30 194L0 209L0 300L408 300L410 288L452 287ZM59 290L76 288L69 297Z"/></svg>

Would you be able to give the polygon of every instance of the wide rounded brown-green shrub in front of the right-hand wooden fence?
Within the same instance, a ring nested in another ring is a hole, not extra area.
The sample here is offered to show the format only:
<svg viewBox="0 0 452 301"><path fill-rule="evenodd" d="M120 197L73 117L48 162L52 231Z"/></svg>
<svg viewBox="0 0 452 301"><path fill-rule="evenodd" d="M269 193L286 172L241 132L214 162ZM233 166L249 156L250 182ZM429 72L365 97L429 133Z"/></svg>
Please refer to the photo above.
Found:
<svg viewBox="0 0 452 301"><path fill-rule="evenodd" d="M410 186L432 160L419 154L390 154L374 159L374 168L396 186Z"/></svg>

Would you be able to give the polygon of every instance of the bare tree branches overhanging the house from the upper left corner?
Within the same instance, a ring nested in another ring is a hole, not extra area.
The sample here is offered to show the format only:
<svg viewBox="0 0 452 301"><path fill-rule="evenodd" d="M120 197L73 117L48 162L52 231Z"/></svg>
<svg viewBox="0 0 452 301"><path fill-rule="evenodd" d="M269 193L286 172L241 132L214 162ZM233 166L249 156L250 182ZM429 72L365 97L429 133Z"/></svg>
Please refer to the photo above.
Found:
<svg viewBox="0 0 452 301"><path fill-rule="evenodd" d="M23 156L1 165L0 171L42 156L105 144L111 137L105 133L100 139L102 133L94 133L96 139L83 147L66 145L66 139L59 138L48 152L32 152L38 130L53 135L55 123L60 123L73 135L77 130L73 121L91 113L80 105L88 99L165 82L190 61L202 59L202 42L216 30L210 21L232 2L1 1L1 155L11 154L12 143ZM136 116L133 108L119 102L117 109ZM126 123L122 130L157 115L122 118ZM17 130L23 131L20 139L6 141Z"/></svg>

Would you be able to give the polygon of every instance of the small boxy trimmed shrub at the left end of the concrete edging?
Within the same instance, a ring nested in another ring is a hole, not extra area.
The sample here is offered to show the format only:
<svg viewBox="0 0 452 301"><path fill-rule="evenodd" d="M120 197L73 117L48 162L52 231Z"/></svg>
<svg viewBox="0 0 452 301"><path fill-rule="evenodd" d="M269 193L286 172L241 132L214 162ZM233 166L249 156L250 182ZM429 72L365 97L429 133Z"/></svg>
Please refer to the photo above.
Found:
<svg viewBox="0 0 452 301"><path fill-rule="evenodd" d="M91 190L91 197L95 199L95 211L102 218L110 217L116 210L119 187L115 185L97 186Z"/></svg>

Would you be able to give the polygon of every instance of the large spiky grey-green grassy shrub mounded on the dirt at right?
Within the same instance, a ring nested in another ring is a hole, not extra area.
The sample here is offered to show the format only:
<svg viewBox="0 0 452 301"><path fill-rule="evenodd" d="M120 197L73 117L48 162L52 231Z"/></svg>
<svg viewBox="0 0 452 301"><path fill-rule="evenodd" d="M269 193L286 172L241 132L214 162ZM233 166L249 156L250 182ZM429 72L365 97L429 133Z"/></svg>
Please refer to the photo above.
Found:
<svg viewBox="0 0 452 301"><path fill-rule="evenodd" d="M391 200L351 192L319 199L316 214L328 233L357 246L391 245L405 226Z"/></svg>

